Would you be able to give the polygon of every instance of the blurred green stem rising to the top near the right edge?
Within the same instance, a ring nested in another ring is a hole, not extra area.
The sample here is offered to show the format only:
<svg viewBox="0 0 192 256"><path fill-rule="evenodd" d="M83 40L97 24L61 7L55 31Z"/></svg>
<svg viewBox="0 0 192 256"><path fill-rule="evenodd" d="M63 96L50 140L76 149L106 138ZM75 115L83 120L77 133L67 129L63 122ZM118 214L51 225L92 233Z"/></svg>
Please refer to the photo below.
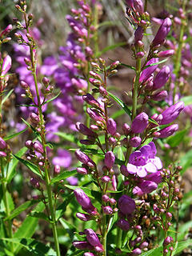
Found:
<svg viewBox="0 0 192 256"><path fill-rule="evenodd" d="M186 0L183 0L182 2L182 10L185 14L186 11ZM177 89L178 89L178 77L179 77L179 70L181 67L181 59L182 59L182 46L183 46L183 35L185 33L186 30L186 20L182 19L182 26L181 26L181 30L180 30L180 34L179 34L179 41L178 41L178 50L175 54L175 66L174 66L174 74L176 75L176 81L174 84L174 92L173 92L173 104L175 103L175 95L177 93Z"/></svg>

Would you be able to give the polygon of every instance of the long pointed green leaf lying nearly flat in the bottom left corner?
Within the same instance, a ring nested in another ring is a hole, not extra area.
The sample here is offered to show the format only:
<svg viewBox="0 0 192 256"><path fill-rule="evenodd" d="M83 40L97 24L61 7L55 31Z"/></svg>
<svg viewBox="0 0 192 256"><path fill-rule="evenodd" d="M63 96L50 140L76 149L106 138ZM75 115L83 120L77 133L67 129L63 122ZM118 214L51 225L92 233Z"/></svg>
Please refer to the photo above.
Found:
<svg viewBox="0 0 192 256"><path fill-rule="evenodd" d="M32 238L2 238L2 240L12 242L16 246L24 247L26 250L29 250L32 254L37 256L56 256L53 249Z"/></svg>

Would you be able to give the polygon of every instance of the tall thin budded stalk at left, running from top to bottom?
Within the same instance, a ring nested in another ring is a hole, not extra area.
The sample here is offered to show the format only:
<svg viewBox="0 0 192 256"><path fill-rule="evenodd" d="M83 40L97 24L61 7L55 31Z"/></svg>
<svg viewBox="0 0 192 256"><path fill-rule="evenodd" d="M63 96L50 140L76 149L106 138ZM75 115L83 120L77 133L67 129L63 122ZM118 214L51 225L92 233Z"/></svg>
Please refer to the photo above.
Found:
<svg viewBox="0 0 192 256"><path fill-rule="evenodd" d="M58 230L57 230L57 222L55 217L55 200L54 195L51 190L51 184L50 184L50 163L47 156L47 150L46 150L46 130L45 130L45 120L42 113L42 106L44 102L46 101L46 94L44 95L44 99L40 98L40 88L38 85L38 79L37 79L37 51L36 51L36 45L34 42L34 38L30 35L30 25L33 20L33 14L26 14L26 2L22 2L21 6L16 6L18 10L20 10L23 14L25 25L22 26L22 24L18 23L18 28L26 30L26 38L27 41L25 41L21 35L17 34L18 40L20 40L20 43L24 43L30 48L30 58L25 58L24 61L26 62L26 65L28 66L28 70L31 71L31 74L34 78L34 86L35 86L35 92L36 95L30 94L30 98L34 102L34 106L38 109L38 115L36 115L36 122L38 122L38 134L41 137L41 143L36 142L34 143L34 149L37 150L39 153L42 154L43 159L43 171L44 171L44 180L46 182L46 192L47 192L47 198L48 198L48 207L47 214L50 218L50 223L52 226L53 234L54 234L54 246L57 256L60 256L60 250L59 250L59 242L58 242ZM48 79L44 78L44 85L46 85L46 88L48 88ZM23 87L25 82L22 82ZM28 86L26 85L26 88ZM29 90L29 88L27 88ZM37 98L37 102L35 102L34 97ZM35 115L35 114L34 114ZM34 116L33 115L33 116ZM35 118L31 117L32 120ZM27 146L27 145L26 145ZM31 146L31 143L30 145ZM38 187L38 183L36 182L36 186Z"/></svg>

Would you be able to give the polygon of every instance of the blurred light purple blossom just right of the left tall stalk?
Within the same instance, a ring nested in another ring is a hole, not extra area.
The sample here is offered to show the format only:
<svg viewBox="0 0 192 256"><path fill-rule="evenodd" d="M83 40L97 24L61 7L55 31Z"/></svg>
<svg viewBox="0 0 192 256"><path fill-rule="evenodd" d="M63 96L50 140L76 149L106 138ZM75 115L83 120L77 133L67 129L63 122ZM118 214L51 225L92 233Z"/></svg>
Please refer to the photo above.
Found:
<svg viewBox="0 0 192 256"><path fill-rule="evenodd" d="M64 168L68 168L71 164L72 158L67 150L63 150L61 148L57 151L57 156L53 158L52 163L54 166L62 166Z"/></svg>

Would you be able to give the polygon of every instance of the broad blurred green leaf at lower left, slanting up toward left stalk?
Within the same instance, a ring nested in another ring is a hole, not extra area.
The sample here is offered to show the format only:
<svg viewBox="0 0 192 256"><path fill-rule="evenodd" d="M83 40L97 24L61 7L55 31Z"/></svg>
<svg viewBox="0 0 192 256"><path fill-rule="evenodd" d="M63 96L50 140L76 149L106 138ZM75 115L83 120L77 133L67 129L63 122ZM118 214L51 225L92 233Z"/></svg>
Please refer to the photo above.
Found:
<svg viewBox="0 0 192 256"><path fill-rule="evenodd" d="M39 202L38 206L34 208L36 211L42 211L45 209L45 205L43 202ZM14 238L31 238L35 232L36 226L38 226L38 218L34 217L26 217L24 222L22 222L22 226L14 233ZM17 254L18 251L22 248L21 245L14 246L14 253Z"/></svg>

